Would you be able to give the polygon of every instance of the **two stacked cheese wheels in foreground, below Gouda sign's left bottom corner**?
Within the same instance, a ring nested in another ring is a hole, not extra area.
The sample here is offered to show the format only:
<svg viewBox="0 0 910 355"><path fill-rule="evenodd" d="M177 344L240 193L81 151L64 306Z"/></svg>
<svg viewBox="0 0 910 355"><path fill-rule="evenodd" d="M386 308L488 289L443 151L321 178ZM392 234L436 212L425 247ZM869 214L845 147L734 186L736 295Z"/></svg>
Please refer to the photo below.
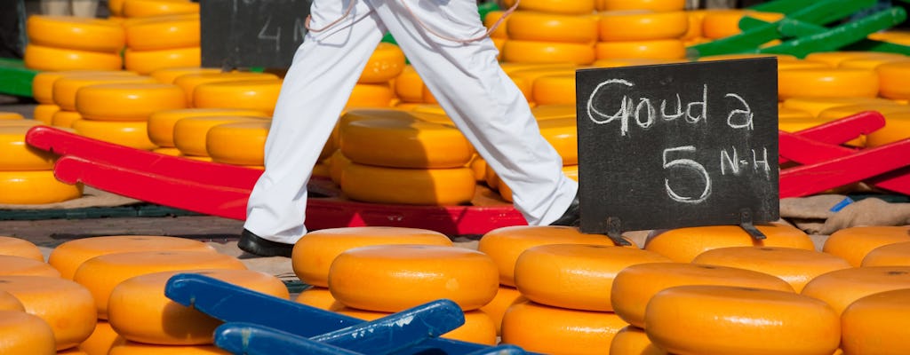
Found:
<svg viewBox="0 0 910 355"><path fill-rule="evenodd" d="M530 301L506 311L502 341L541 353L602 353L629 325L604 297L615 275L635 264L667 261L652 251L609 245L549 244L523 251L515 285Z"/></svg>

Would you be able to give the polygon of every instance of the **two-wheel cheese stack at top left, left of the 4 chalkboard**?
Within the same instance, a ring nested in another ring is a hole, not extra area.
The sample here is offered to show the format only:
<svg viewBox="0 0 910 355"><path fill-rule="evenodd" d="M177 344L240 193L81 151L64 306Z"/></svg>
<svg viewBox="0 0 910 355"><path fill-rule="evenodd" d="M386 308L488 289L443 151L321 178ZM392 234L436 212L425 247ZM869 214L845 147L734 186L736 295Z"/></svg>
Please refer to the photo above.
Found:
<svg viewBox="0 0 910 355"><path fill-rule="evenodd" d="M42 71L119 70L126 35L114 21L75 16L29 16L25 66Z"/></svg>

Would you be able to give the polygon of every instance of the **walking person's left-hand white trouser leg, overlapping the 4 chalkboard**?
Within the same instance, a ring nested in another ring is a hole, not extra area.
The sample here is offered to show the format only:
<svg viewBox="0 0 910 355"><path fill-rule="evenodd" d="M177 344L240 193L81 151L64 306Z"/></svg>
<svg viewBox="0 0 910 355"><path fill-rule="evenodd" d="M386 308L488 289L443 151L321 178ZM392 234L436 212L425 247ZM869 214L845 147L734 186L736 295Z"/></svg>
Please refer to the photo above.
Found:
<svg viewBox="0 0 910 355"><path fill-rule="evenodd" d="M316 0L312 28L341 18L350 1ZM265 151L266 170L247 205L244 228L273 242L306 233L307 181L322 146L385 29L358 0L351 14L325 32L308 33L288 69Z"/></svg>

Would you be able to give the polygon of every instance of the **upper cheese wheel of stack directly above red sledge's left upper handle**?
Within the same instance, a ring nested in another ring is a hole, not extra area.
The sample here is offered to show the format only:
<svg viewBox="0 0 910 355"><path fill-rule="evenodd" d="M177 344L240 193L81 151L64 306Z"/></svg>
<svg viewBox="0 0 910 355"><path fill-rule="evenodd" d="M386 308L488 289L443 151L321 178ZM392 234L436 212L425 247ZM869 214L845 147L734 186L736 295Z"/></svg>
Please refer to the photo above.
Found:
<svg viewBox="0 0 910 355"><path fill-rule="evenodd" d="M76 92L76 111L86 120L147 121L157 111L186 107L174 84L98 84Z"/></svg>

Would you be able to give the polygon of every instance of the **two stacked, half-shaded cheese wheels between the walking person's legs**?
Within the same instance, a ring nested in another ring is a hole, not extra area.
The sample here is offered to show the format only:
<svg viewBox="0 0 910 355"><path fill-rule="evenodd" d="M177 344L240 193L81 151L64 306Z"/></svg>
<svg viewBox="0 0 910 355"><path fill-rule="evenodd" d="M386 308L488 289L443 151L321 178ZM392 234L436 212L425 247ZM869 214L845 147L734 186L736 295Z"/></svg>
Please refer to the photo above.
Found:
<svg viewBox="0 0 910 355"><path fill-rule="evenodd" d="M456 205L474 196L474 174L466 167L473 148L452 123L397 109L349 110L339 140L351 162L341 191L353 200Z"/></svg>

